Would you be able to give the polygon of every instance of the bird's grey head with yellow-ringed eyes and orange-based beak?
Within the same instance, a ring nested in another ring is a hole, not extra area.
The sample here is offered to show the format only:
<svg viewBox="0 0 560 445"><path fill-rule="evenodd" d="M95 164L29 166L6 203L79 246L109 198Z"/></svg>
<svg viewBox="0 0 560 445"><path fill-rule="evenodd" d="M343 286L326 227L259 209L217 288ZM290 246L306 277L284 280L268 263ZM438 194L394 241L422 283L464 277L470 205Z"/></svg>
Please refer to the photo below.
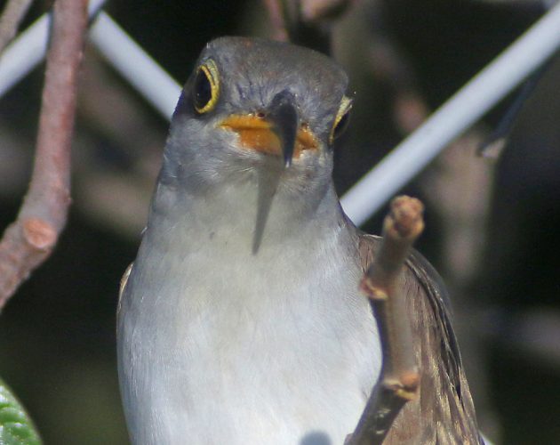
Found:
<svg viewBox="0 0 560 445"><path fill-rule="evenodd" d="M164 179L212 188L265 173L292 189L324 185L351 108L347 85L335 62L299 46L212 41L175 110Z"/></svg>

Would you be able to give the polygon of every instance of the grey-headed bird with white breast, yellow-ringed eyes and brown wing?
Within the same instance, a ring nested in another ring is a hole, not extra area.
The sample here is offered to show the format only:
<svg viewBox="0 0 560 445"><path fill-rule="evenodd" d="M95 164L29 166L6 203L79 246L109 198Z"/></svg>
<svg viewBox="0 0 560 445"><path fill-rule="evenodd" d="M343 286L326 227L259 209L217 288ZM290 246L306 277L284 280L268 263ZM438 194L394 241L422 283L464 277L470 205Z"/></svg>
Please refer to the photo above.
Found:
<svg viewBox="0 0 560 445"><path fill-rule="evenodd" d="M121 283L133 444L338 445L354 431L381 369L359 290L380 238L348 219L332 182L351 108L346 73L322 53L234 36L204 47ZM384 443L479 443L441 279L414 252L400 286L420 392Z"/></svg>

